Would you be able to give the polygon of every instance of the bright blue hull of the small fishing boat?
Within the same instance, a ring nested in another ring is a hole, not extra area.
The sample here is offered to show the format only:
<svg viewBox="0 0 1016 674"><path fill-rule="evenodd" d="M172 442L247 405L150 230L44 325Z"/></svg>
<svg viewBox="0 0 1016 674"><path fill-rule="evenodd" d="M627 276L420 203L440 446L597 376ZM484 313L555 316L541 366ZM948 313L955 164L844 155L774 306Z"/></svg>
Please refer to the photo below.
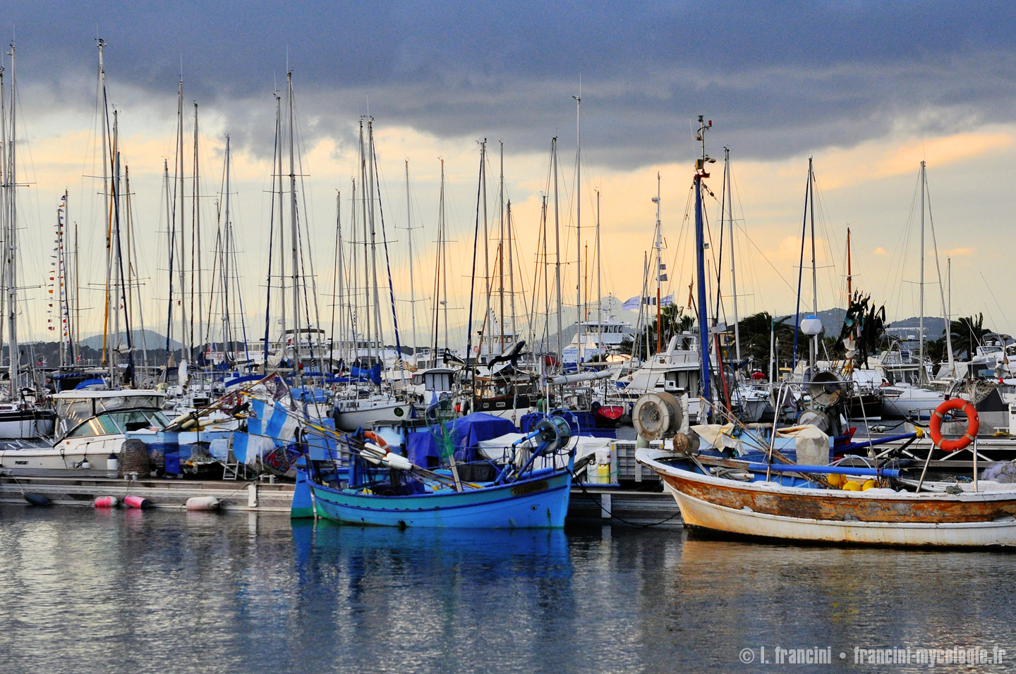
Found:
<svg viewBox="0 0 1016 674"><path fill-rule="evenodd" d="M339 522L382 527L546 529L565 525L571 475L548 471L511 484L409 496L309 486L318 515Z"/></svg>

